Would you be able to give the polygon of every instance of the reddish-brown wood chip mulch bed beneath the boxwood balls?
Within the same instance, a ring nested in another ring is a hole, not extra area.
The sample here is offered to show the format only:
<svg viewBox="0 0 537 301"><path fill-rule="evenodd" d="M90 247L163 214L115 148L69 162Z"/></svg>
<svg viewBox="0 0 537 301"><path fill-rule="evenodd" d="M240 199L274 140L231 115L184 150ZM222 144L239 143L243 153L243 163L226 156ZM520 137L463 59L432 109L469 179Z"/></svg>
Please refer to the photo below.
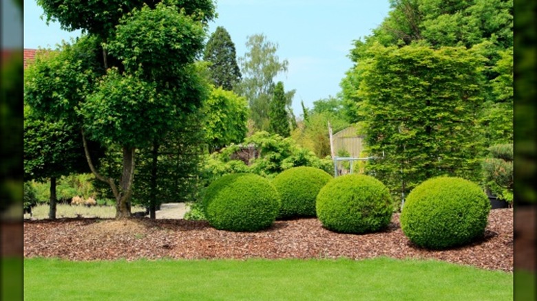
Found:
<svg viewBox="0 0 537 301"><path fill-rule="evenodd" d="M482 269L513 271L513 209L491 210L483 238L471 245L430 251L404 236L399 214L388 229L339 234L317 219L276 221L261 232L215 230L182 219L58 219L24 222L24 256L68 260L147 258L419 258Z"/></svg>

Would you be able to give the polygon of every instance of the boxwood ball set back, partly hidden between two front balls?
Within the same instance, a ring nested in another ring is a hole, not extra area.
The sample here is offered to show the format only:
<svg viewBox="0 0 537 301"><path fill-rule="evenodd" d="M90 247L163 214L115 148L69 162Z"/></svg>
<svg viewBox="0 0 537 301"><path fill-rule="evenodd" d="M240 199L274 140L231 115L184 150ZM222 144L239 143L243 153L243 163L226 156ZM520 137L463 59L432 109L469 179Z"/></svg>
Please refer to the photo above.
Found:
<svg viewBox="0 0 537 301"><path fill-rule="evenodd" d="M332 176L328 172L308 166L293 167L281 172L272 181L282 198L277 218L316 216L315 198L330 179Z"/></svg>

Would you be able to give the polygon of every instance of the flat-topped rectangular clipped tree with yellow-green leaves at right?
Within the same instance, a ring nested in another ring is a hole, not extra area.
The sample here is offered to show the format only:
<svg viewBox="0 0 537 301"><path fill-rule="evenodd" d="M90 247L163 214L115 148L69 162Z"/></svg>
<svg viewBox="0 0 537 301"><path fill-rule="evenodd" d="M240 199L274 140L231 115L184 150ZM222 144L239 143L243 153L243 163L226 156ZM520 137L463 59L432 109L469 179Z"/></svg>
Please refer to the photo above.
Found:
<svg viewBox="0 0 537 301"><path fill-rule="evenodd" d="M483 130L481 58L461 47L382 47L361 63L366 172L394 200L439 175L478 181ZM383 153L385 157L382 157Z"/></svg>

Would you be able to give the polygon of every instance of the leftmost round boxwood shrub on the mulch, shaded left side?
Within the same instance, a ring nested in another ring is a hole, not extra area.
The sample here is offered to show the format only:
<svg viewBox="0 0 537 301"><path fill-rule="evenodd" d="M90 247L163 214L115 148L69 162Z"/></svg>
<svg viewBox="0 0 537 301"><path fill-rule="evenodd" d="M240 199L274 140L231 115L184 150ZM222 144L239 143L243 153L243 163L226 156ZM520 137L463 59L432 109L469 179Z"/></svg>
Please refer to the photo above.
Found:
<svg viewBox="0 0 537 301"><path fill-rule="evenodd" d="M280 210L280 195L271 181L253 174L216 179L202 199L205 217L218 230L253 232L270 227Z"/></svg>

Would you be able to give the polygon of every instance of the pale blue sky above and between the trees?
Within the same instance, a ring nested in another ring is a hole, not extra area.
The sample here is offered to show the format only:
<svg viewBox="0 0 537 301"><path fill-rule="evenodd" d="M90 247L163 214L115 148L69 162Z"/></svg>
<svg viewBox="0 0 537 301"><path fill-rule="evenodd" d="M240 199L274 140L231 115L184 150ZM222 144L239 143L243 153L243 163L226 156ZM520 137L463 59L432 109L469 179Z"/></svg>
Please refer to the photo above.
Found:
<svg viewBox="0 0 537 301"><path fill-rule="evenodd" d="M328 96L336 96L339 82L352 66L352 41L368 36L388 16L388 0L218 0L218 19L209 31L224 27L235 43L237 56L246 52L246 38L264 34L278 44L277 56L288 60L282 80L286 91L296 89L295 115ZM24 47L55 47L80 32L64 32L57 23L46 25L35 0L24 0Z"/></svg>

